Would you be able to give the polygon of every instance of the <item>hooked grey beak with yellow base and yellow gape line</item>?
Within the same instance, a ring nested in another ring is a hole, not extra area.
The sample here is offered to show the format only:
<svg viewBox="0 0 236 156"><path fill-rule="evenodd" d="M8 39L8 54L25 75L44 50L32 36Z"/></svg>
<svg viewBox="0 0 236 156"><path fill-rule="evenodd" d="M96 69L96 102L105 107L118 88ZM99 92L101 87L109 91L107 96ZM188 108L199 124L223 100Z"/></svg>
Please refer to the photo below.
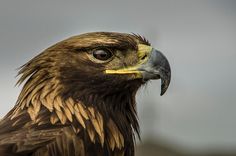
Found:
<svg viewBox="0 0 236 156"><path fill-rule="evenodd" d="M150 79L161 79L161 95L163 95L171 80L171 69L166 57L158 50L140 44L138 55L140 62L131 67L106 70L106 74L135 74L136 78L142 78L143 81ZM144 60L144 56L147 56Z"/></svg>

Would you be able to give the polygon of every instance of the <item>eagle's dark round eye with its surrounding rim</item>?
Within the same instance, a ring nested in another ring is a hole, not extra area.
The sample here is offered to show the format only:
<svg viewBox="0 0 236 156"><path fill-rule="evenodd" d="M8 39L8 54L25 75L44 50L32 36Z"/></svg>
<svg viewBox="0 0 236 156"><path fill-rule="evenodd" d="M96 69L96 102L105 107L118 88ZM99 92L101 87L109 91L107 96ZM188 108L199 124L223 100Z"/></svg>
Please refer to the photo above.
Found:
<svg viewBox="0 0 236 156"><path fill-rule="evenodd" d="M113 53L109 49L95 49L91 52L91 55L100 62L107 62L113 57Z"/></svg>

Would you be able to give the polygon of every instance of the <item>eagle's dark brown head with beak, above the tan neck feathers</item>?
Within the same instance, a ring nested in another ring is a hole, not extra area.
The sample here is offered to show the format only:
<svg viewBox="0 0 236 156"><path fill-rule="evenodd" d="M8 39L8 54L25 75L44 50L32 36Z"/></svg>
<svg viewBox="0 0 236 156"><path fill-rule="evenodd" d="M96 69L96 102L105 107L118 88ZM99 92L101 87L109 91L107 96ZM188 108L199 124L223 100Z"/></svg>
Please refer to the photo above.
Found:
<svg viewBox="0 0 236 156"><path fill-rule="evenodd" d="M74 98L104 97L159 78L162 95L171 76L165 56L145 38L114 32L86 33L61 41L25 64L22 73L23 79L30 74L54 78L63 86L63 95Z"/></svg>

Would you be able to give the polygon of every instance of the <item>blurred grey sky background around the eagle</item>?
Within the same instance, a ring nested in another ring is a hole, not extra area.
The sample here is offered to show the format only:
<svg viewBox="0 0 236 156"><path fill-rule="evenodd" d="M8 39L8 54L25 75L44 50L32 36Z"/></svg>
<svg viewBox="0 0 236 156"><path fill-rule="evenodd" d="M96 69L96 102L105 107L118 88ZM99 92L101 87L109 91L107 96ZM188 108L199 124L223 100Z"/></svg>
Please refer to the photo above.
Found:
<svg viewBox="0 0 236 156"><path fill-rule="evenodd" d="M17 68L80 33L145 36L172 67L137 95L142 141L137 155L236 155L235 0L0 0L0 117L21 87Z"/></svg>

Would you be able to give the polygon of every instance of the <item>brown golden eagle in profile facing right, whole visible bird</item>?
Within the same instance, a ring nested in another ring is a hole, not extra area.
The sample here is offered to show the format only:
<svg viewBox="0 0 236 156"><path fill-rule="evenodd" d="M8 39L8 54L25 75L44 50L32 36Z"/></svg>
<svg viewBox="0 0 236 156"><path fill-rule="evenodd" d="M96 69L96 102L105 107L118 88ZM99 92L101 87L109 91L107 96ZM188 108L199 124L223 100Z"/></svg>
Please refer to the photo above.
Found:
<svg viewBox="0 0 236 156"><path fill-rule="evenodd" d="M47 48L20 69L24 83L0 121L1 156L134 156L135 95L170 83L166 57L144 37L89 32Z"/></svg>

